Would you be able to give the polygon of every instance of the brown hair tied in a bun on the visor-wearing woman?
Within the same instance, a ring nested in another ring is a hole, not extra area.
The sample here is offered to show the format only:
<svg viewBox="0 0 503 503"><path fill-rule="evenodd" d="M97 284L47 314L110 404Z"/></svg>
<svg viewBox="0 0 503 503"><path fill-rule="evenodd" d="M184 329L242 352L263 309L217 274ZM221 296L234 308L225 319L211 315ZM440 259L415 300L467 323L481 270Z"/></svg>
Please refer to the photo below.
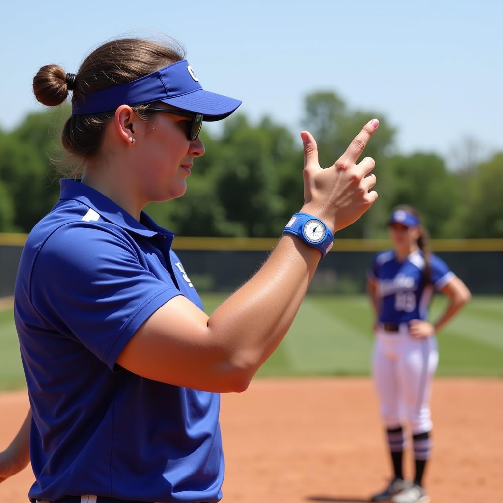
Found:
<svg viewBox="0 0 503 503"><path fill-rule="evenodd" d="M185 50L176 41L161 45L136 38L113 40L95 49L82 62L73 81L71 78L67 81L67 74L61 66L43 66L33 78L33 92L40 103L48 106L63 103L70 90L76 100L84 101L90 93L129 82L184 58ZM144 113L147 107L131 108L140 118L147 120L148 116ZM70 154L70 160L76 160L81 167L83 161L98 153L105 127L114 113L115 110L72 115L66 121L61 143Z"/></svg>

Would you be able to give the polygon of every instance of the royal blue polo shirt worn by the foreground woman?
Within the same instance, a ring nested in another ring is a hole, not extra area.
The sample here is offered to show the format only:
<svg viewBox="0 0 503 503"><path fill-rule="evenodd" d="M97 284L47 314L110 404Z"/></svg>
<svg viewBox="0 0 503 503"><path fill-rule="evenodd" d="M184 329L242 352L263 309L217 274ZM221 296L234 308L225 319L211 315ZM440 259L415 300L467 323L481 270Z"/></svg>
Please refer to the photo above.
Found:
<svg viewBox="0 0 503 503"><path fill-rule="evenodd" d="M221 498L219 395L115 364L171 298L203 308L173 238L72 180L61 180L59 202L28 236L15 319L33 413L32 500Z"/></svg>

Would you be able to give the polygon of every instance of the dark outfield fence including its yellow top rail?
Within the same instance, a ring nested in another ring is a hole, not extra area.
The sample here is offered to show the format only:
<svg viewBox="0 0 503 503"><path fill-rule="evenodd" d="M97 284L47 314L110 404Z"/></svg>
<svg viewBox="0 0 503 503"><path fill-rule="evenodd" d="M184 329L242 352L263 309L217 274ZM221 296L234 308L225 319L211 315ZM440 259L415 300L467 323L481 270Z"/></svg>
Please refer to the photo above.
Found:
<svg viewBox="0 0 503 503"><path fill-rule="evenodd" d="M0 296L14 293L26 234L0 233ZM267 259L277 239L176 237L173 248L201 292L232 291ZM433 239L445 260L473 294L503 294L503 239ZM362 293L366 272L387 239L340 239L320 262L310 291Z"/></svg>

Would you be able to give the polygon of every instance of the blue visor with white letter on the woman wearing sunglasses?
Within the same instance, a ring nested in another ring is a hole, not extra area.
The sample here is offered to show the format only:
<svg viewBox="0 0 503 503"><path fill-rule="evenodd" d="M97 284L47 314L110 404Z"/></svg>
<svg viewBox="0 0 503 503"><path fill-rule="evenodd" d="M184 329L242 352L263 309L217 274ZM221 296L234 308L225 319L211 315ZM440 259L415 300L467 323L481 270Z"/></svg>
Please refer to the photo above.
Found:
<svg viewBox="0 0 503 503"><path fill-rule="evenodd" d="M72 115L97 114L120 105L146 105L161 101L202 114L205 121L225 119L241 104L239 100L204 91L186 59L118 86L95 91L84 101L72 100Z"/></svg>

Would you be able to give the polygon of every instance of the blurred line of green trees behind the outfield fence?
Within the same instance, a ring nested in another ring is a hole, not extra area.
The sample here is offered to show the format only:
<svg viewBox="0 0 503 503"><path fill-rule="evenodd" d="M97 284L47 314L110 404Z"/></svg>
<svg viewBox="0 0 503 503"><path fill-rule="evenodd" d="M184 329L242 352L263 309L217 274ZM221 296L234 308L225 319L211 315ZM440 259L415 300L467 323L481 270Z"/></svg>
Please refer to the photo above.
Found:
<svg viewBox="0 0 503 503"><path fill-rule="evenodd" d="M0 131L0 231L29 232L57 202L59 133L69 106L28 115L12 131ZM503 237L503 151L449 170L432 152L396 152L393 128L382 114L353 110L333 92L304 101L303 127L318 143L320 164L333 163L373 117L381 125L365 154L376 160L379 199L339 237L386 235L386 219L398 204L423 216L432 237ZM180 199L152 203L146 211L184 236L276 237L303 202L302 148L284 125L265 117L251 123L235 113L219 134L201 133L206 153L195 160Z"/></svg>

